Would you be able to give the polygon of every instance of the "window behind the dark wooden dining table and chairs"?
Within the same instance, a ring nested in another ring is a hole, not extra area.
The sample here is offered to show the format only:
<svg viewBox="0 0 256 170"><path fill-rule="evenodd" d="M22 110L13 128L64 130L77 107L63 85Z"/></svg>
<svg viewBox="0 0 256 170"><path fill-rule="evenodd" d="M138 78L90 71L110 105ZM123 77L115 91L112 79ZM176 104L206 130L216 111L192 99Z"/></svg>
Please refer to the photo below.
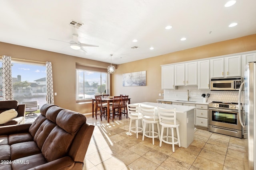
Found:
<svg viewBox="0 0 256 170"><path fill-rule="evenodd" d="M89 100L102 94L109 94L109 74L76 70L76 100Z"/></svg>

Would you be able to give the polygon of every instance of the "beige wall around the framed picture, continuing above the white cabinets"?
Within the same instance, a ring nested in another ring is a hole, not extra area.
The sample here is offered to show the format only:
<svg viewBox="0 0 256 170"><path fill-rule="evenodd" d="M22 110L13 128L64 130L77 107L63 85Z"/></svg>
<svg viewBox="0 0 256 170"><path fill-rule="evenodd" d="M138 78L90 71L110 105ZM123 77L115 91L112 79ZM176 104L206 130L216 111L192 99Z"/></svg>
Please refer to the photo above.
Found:
<svg viewBox="0 0 256 170"><path fill-rule="evenodd" d="M164 93L161 89L160 65L254 50L256 50L256 34L120 64L112 76L112 95L127 94L131 98L131 103L156 102L157 99L163 98L159 97L158 93ZM143 70L146 70L147 74L146 86L122 86L123 73Z"/></svg>

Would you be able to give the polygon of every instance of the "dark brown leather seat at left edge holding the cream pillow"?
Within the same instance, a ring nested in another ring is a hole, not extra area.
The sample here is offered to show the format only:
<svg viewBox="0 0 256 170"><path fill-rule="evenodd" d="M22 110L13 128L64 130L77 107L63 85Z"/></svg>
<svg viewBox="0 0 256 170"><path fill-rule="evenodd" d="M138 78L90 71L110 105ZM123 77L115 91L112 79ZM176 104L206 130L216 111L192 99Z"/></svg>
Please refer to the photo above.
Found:
<svg viewBox="0 0 256 170"><path fill-rule="evenodd" d="M0 101L0 113L10 109L15 109L18 112L17 117L4 124L1 124L0 126L25 123L25 104L18 104L17 100Z"/></svg>

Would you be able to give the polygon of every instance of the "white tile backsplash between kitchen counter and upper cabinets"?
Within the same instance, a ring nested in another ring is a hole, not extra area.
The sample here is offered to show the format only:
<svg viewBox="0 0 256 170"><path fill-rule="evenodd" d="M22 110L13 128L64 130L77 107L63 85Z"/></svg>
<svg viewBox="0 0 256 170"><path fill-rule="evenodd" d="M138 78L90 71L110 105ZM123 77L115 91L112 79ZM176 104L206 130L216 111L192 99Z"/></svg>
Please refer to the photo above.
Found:
<svg viewBox="0 0 256 170"><path fill-rule="evenodd" d="M198 89L197 86L178 86L178 89L164 90L164 100L188 100L188 92L190 101L203 102L202 94L210 94L207 102L238 102L238 91L210 91Z"/></svg>

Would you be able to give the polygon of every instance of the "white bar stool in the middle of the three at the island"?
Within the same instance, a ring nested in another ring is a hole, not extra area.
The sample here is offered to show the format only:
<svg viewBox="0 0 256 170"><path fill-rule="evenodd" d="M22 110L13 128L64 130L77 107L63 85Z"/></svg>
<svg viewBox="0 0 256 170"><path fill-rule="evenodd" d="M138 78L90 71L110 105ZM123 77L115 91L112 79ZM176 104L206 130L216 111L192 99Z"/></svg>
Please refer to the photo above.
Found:
<svg viewBox="0 0 256 170"><path fill-rule="evenodd" d="M152 138L152 143L154 145L154 138L159 137L159 118L155 114L155 107L145 107L140 105L140 112L142 113L143 125L143 136L142 141L144 141L144 136ZM146 125L149 124L149 131L146 131ZM157 132L154 131L154 124L157 125ZM152 131L151 131L152 126ZM152 135L151 135L152 134ZM160 140L160 137L159 137Z"/></svg>

